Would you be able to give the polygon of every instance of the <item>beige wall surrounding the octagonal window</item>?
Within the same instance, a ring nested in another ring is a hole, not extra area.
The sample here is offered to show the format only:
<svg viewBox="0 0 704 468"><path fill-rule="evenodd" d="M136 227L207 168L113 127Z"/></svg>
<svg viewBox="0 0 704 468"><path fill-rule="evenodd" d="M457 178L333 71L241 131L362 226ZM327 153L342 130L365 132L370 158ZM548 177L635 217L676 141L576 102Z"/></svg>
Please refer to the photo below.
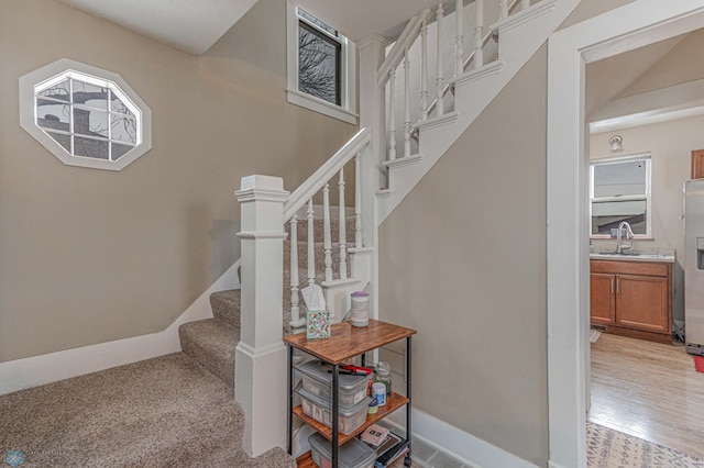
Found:
<svg viewBox="0 0 704 468"><path fill-rule="evenodd" d="M53 0L0 2L0 361L166 328L239 258L233 191L295 188L355 127L286 102L286 7L196 57ZM153 149L63 165L19 125L18 78L62 57L120 74Z"/></svg>

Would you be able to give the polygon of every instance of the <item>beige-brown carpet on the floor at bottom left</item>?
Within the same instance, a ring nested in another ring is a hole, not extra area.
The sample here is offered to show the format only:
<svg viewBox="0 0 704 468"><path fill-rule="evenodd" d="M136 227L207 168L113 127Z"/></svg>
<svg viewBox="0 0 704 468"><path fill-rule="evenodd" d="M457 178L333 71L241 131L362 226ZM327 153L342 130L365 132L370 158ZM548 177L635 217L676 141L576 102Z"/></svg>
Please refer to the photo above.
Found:
<svg viewBox="0 0 704 468"><path fill-rule="evenodd" d="M295 467L280 449L248 458L243 420L232 388L177 353L0 397L0 463Z"/></svg>

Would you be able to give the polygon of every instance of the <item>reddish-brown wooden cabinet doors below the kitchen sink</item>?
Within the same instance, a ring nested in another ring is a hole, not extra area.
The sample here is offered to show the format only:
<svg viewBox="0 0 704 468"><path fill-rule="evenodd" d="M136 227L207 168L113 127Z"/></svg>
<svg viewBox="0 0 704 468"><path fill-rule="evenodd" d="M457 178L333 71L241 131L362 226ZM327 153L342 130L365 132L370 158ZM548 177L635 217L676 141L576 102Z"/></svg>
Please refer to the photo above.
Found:
<svg viewBox="0 0 704 468"><path fill-rule="evenodd" d="M672 264L591 260L591 323L606 333L672 343Z"/></svg>

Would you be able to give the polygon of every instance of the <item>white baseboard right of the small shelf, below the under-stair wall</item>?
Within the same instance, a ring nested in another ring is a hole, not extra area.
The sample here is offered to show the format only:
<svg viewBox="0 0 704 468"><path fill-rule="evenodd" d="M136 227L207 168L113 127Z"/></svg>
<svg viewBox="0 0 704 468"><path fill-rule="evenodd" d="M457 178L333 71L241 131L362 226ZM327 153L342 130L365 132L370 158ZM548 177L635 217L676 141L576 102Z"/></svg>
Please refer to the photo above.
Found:
<svg viewBox="0 0 704 468"><path fill-rule="evenodd" d="M404 428L406 412L396 411L388 420ZM503 448L416 409L413 410L413 431L414 437L420 438L426 444L444 452L466 466L474 468L536 468L536 465L518 458Z"/></svg>

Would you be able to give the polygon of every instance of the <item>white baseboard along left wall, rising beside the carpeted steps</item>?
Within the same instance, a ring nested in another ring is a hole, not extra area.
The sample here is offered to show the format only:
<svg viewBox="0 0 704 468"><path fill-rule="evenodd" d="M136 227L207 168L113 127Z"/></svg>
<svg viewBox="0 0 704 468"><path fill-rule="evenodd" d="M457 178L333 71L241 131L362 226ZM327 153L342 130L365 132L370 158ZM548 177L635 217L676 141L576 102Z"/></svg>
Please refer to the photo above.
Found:
<svg viewBox="0 0 704 468"><path fill-rule="evenodd" d="M238 289L239 266L240 260L163 332L0 363L0 394L179 352L178 327L212 316L210 294Z"/></svg>

